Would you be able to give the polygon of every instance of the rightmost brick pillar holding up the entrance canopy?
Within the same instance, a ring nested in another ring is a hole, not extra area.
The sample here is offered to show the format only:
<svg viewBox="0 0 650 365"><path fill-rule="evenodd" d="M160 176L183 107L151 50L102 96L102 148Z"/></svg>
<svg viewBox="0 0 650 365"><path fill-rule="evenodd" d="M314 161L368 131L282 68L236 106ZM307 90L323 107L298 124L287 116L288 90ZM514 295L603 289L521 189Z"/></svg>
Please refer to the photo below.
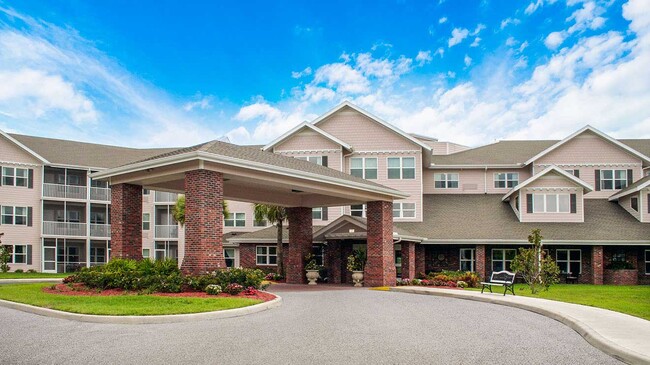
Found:
<svg viewBox="0 0 650 365"><path fill-rule="evenodd" d="M395 251L393 244L393 203L367 203L368 260L364 273L366 286L395 285Z"/></svg>

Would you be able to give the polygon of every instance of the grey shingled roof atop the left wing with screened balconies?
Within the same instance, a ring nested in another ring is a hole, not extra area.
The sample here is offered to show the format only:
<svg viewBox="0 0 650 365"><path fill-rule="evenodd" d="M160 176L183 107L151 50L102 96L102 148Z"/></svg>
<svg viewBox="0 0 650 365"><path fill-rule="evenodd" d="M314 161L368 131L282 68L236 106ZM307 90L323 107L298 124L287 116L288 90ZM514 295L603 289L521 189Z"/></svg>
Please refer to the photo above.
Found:
<svg viewBox="0 0 650 365"><path fill-rule="evenodd" d="M53 164L111 168L178 148L126 148L63 139L9 134Z"/></svg>

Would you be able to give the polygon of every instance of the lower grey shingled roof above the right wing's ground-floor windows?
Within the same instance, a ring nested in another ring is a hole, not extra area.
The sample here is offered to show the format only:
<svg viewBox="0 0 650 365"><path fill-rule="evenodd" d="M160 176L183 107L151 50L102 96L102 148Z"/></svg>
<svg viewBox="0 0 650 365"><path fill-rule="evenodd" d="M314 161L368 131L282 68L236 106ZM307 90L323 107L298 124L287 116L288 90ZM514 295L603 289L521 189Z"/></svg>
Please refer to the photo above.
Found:
<svg viewBox="0 0 650 365"><path fill-rule="evenodd" d="M584 223L521 223L501 195L427 194L424 222L395 225L431 240L525 241L533 228L540 228L547 240L650 240L650 224L606 199L585 199Z"/></svg>

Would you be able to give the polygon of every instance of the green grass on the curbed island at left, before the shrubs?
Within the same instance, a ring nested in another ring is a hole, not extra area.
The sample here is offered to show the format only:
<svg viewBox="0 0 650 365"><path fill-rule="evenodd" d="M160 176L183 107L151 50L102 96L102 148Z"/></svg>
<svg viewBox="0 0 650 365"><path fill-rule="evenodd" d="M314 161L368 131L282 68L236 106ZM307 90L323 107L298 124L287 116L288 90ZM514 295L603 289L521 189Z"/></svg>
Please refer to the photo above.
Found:
<svg viewBox="0 0 650 365"><path fill-rule="evenodd" d="M247 307L261 303L247 298L178 298L154 295L66 296L48 294L51 284L8 284L0 286L0 299L65 312L111 316L183 314Z"/></svg>

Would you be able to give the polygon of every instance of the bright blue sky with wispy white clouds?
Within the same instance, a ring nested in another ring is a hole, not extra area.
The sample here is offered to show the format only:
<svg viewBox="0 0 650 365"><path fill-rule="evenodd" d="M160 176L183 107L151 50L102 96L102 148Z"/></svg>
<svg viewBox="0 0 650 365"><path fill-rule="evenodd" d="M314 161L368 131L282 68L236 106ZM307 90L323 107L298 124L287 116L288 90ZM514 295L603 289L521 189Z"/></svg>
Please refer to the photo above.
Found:
<svg viewBox="0 0 650 365"><path fill-rule="evenodd" d="M99 143L264 143L342 100L467 145L650 138L648 65L646 0L0 0L0 129Z"/></svg>

